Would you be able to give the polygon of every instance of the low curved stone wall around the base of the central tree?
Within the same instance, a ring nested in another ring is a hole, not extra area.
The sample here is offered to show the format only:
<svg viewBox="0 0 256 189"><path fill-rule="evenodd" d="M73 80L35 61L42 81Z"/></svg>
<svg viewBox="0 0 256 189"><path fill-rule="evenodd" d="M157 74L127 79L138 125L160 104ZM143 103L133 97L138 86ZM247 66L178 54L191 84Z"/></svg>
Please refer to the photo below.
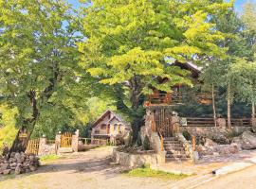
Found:
<svg viewBox="0 0 256 189"><path fill-rule="evenodd" d="M125 152L120 152L117 148L113 149L113 161L119 163L120 165L135 168L142 166L143 164L150 164L151 166L157 163L165 163L165 153L141 153L141 154L130 154Z"/></svg>

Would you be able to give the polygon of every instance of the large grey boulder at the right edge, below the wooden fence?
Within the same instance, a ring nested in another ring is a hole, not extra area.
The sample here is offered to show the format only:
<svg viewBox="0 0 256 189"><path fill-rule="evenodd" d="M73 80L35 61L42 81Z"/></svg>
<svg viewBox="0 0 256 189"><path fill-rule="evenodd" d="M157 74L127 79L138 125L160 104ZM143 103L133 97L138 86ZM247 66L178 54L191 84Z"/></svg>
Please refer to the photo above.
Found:
<svg viewBox="0 0 256 189"><path fill-rule="evenodd" d="M238 145L238 148L242 149L256 149L256 134L251 131L245 131L239 137L234 137L233 143Z"/></svg>

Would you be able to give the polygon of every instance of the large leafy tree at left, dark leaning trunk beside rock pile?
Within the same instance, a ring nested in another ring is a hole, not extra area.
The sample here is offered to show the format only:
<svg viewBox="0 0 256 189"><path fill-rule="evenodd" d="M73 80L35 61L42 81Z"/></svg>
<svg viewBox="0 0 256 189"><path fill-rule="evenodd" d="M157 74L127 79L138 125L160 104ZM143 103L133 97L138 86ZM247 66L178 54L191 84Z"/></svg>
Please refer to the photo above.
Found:
<svg viewBox="0 0 256 189"><path fill-rule="evenodd" d="M18 110L11 151L25 151L36 126L81 120L89 81L77 64L75 15L64 0L0 0L1 103Z"/></svg>

